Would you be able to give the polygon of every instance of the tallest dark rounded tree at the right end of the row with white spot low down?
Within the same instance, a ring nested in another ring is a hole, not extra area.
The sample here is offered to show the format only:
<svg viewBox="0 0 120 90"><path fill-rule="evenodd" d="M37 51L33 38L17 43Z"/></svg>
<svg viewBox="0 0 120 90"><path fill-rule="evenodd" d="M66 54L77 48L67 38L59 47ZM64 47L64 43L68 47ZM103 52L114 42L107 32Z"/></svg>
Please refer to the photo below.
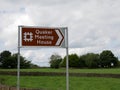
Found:
<svg viewBox="0 0 120 90"><path fill-rule="evenodd" d="M118 58L110 50L104 50L100 53L100 65L101 67L117 67Z"/></svg>

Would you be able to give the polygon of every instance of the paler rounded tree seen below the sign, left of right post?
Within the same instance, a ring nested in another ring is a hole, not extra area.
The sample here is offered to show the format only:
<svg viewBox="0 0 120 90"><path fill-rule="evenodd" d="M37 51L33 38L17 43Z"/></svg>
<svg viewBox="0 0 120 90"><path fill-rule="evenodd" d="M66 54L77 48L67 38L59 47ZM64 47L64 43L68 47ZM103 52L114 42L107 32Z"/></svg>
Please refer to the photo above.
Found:
<svg viewBox="0 0 120 90"><path fill-rule="evenodd" d="M60 55L58 55L56 53L51 55L50 62L49 62L50 67L51 68L59 68L61 61L62 61L62 57Z"/></svg>

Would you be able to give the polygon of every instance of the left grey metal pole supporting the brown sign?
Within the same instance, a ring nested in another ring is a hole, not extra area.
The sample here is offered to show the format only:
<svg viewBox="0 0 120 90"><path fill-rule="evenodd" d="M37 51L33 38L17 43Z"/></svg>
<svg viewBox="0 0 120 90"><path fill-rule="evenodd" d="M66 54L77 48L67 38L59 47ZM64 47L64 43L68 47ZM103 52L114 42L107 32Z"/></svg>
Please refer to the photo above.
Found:
<svg viewBox="0 0 120 90"><path fill-rule="evenodd" d="M17 90L20 90L20 26L18 26Z"/></svg>

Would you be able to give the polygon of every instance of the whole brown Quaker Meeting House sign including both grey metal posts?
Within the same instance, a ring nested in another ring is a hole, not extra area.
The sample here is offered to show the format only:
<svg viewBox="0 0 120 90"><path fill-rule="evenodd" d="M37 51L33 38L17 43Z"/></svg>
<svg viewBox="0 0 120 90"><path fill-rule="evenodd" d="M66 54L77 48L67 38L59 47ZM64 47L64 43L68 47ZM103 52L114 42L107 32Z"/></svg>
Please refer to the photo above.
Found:
<svg viewBox="0 0 120 90"><path fill-rule="evenodd" d="M20 48L61 47L66 48L66 90L69 90L68 28L18 26L17 90L20 90Z"/></svg>

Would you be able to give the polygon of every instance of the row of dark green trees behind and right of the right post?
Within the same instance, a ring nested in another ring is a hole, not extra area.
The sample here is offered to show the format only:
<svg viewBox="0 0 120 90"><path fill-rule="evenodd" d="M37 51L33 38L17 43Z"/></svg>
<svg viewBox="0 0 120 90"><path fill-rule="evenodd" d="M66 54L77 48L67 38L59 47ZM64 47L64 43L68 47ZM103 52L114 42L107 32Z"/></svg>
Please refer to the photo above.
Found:
<svg viewBox="0 0 120 90"><path fill-rule="evenodd" d="M69 67L75 68L111 68L118 67L118 58L110 50L104 50L102 53L87 53L80 57L77 54L69 55ZM60 64L61 67L66 66L66 56Z"/></svg>

